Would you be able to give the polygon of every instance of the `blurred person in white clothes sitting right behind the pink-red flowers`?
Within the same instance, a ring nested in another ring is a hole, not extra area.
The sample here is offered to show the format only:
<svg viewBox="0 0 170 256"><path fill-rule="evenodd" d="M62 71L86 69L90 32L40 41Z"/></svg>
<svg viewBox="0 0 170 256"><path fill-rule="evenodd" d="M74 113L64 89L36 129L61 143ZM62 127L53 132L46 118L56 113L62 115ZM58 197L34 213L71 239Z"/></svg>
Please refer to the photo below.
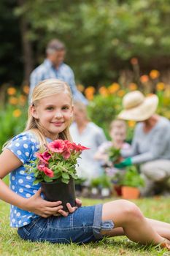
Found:
<svg viewBox="0 0 170 256"><path fill-rule="evenodd" d="M77 166L80 178L86 178L88 186L92 178L101 175L101 165L94 159L98 146L106 141L103 129L89 120L87 109L82 102L74 102L74 123L70 127L70 133L75 143L81 143L90 148L83 151Z"/></svg>

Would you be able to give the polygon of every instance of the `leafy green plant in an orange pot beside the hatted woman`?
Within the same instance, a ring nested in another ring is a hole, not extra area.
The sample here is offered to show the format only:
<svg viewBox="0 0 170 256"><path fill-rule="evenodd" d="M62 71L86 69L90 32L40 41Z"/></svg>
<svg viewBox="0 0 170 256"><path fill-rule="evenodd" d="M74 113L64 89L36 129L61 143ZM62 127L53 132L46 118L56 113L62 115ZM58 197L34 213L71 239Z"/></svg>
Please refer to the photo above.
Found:
<svg viewBox="0 0 170 256"><path fill-rule="evenodd" d="M136 166L126 167L125 174L120 181L122 185L122 196L124 199L136 199L139 197L139 187L144 186L144 179L138 173Z"/></svg>

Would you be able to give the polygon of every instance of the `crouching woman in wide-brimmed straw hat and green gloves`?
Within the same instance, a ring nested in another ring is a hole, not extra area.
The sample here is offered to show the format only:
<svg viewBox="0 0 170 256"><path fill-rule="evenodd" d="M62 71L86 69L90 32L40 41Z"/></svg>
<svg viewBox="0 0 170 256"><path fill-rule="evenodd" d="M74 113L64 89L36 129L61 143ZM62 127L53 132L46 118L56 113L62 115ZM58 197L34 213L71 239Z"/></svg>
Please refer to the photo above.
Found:
<svg viewBox="0 0 170 256"><path fill-rule="evenodd" d="M132 91L123 97L122 112L118 118L134 120L136 124L132 147L123 150L124 160L116 167L141 164L145 179L142 195L150 196L168 186L170 177L170 121L155 114L158 97L144 97L140 91Z"/></svg>

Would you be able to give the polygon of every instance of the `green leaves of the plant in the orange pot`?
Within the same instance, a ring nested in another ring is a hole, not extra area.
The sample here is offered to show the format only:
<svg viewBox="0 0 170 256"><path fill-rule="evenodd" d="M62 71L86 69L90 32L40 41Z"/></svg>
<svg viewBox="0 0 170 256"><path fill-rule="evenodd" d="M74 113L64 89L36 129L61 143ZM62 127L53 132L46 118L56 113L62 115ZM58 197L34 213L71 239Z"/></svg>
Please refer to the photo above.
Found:
<svg viewBox="0 0 170 256"><path fill-rule="evenodd" d="M138 173L136 166L128 166L122 176L120 184L128 187L144 187L144 179Z"/></svg>

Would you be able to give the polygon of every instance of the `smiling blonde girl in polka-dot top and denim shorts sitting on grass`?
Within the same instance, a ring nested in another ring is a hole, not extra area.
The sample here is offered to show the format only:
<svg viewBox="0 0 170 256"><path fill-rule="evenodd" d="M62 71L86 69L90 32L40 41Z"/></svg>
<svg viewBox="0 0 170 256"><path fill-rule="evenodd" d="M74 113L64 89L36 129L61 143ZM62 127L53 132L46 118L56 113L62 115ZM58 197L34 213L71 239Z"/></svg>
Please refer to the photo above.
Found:
<svg viewBox="0 0 170 256"><path fill-rule="evenodd" d="M62 202L48 202L41 197L34 176L24 164L35 159L35 152L47 141L70 139L72 96L66 83L49 79L35 87L25 132L13 138L0 156L0 177L10 173L10 188L0 179L0 198L11 204L10 224L18 227L20 238L52 243L85 243L103 236L126 235L140 244L170 244L170 224L144 218L134 204L115 200L96 206L78 208ZM54 214L61 214L55 217Z"/></svg>

